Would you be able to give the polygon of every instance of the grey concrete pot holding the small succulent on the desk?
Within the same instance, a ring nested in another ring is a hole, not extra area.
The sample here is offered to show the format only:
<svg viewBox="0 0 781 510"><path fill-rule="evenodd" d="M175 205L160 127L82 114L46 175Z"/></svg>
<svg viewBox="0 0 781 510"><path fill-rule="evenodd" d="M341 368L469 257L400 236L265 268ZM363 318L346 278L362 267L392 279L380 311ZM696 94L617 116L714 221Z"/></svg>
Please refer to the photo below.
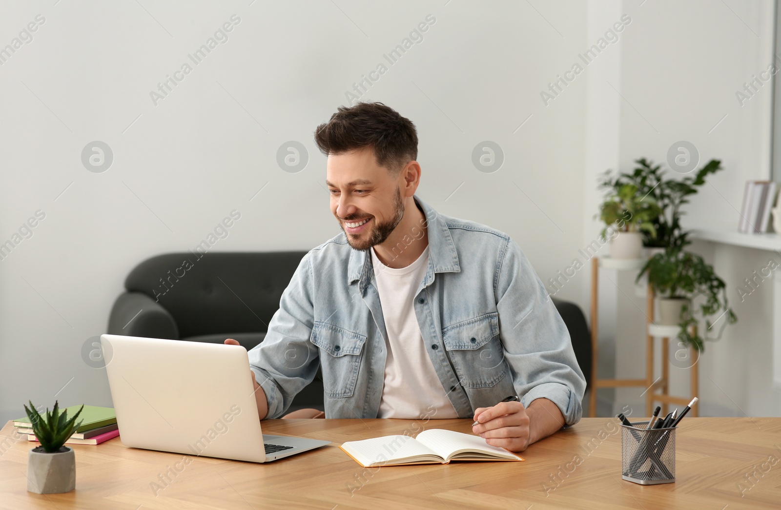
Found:
<svg viewBox="0 0 781 510"><path fill-rule="evenodd" d="M42 446L27 455L27 490L36 494L58 494L76 488L76 455L63 446L47 453Z"/></svg>

